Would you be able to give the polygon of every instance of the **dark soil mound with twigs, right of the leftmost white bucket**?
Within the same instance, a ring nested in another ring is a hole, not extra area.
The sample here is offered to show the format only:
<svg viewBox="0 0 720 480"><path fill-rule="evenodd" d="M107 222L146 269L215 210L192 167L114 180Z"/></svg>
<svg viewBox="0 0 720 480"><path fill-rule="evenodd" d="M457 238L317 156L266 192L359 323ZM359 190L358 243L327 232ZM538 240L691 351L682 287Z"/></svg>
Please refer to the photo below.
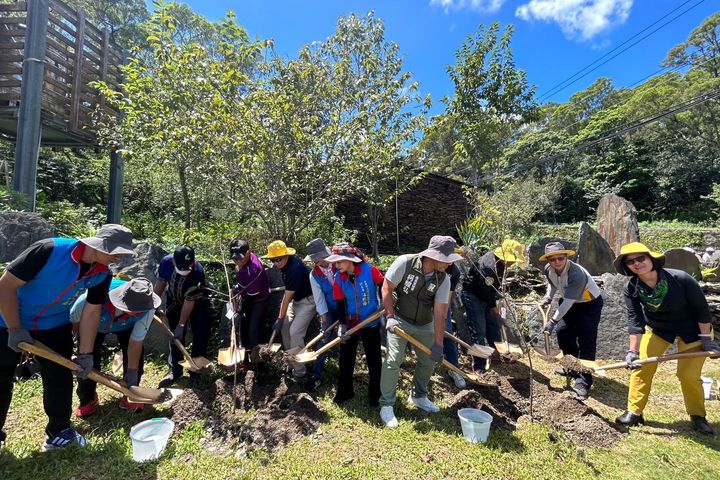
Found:
<svg viewBox="0 0 720 480"><path fill-rule="evenodd" d="M233 411L233 402L235 411ZM327 415L304 389L277 372L258 375L238 372L233 400L233 377L187 390L172 407L178 429L207 420L214 437L248 446L275 449L314 433Z"/></svg>

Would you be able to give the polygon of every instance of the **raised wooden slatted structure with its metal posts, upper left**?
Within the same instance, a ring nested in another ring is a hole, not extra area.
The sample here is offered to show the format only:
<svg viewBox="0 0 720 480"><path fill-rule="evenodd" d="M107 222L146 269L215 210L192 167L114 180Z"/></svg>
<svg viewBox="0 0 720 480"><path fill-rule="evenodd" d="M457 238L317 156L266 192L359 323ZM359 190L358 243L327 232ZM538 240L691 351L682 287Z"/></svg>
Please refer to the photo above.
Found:
<svg viewBox="0 0 720 480"><path fill-rule="evenodd" d="M0 3L0 135L16 140L14 186L31 210L39 146L95 146L91 113L108 107L89 84L117 88L122 63L107 29L61 0ZM117 155L113 164L111 196L122 181Z"/></svg>

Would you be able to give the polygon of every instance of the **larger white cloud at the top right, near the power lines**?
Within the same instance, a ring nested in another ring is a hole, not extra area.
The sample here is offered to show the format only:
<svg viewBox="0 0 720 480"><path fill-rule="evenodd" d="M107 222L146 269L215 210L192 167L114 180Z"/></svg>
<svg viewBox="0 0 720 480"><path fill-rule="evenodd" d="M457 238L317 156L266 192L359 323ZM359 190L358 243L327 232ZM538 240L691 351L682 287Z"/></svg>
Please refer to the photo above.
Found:
<svg viewBox="0 0 720 480"><path fill-rule="evenodd" d="M633 0L530 0L515 16L560 25L565 36L589 40L613 25L625 23Z"/></svg>

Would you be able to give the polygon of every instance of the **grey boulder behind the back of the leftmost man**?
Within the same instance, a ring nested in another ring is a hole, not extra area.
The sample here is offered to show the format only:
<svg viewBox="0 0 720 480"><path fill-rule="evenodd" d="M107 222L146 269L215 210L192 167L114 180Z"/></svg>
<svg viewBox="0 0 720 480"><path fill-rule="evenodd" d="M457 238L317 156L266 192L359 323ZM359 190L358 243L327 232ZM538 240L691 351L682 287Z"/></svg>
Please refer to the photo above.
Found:
<svg viewBox="0 0 720 480"><path fill-rule="evenodd" d="M0 262L15 259L31 243L57 236L52 222L37 213L0 213Z"/></svg>

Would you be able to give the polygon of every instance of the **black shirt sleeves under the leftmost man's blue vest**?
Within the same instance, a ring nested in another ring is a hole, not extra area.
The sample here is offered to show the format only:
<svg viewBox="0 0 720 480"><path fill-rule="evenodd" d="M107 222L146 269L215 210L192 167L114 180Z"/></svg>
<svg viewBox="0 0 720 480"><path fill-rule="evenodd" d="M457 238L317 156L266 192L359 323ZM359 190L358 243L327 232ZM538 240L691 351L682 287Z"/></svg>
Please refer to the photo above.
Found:
<svg viewBox="0 0 720 480"><path fill-rule="evenodd" d="M55 244L52 238L38 240L37 242L26 248L18 257L10 262L7 271L15 275L23 282L29 282L40 270L47 264L50 254L52 254ZM80 262L80 273L78 279L82 278L92 268L92 264ZM107 301L108 290L110 290L110 282L112 275L108 273L105 280L98 283L94 287L88 288L87 303L92 305L102 305Z"/></svg>

